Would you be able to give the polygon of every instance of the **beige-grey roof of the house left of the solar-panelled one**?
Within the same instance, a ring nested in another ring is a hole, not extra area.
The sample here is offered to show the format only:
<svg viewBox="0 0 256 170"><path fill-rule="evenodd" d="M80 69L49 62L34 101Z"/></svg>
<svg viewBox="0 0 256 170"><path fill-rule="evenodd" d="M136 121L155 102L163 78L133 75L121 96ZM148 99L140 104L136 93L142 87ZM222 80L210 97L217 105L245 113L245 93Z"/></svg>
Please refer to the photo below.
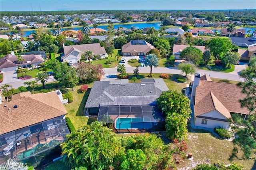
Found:
<svg viewBox="0 0 256 170"><path fill-rule="evenodd" d="M84 53L84 51L91 50L94 53L94 55L106 54L105 48L101 47L100 43L68 45L68 46L63 46L63 48L64 48L64 56L62 56L61 59L64 59L68 54L70 54L73 51Z"/></svg>

